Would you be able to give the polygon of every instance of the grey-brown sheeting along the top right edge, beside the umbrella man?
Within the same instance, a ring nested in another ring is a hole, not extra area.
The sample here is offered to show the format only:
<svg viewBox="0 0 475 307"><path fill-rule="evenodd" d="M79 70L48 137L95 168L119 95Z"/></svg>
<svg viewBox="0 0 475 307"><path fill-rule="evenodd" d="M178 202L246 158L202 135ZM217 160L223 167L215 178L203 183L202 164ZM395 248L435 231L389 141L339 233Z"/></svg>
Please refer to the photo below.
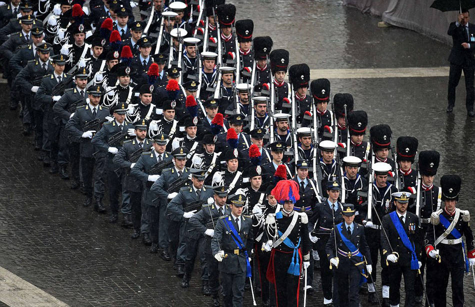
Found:
<svg viewBox="0 0 475 307"><path fill-rule="evenodd" d="M441 12L430 7L432 2L433 0L343 0L344 5L381 16L386 23L451 44L452 39L447 35L447 29L449 23L456 20L457 12Z"/></svg>

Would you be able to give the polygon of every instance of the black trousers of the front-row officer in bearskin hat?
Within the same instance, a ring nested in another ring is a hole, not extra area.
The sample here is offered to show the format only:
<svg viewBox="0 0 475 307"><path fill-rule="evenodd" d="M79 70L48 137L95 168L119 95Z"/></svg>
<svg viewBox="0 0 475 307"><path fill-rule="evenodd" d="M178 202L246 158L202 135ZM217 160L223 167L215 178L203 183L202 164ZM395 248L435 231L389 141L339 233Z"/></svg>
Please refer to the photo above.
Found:
<svg viewBox="0 0 475 307"><path fill-rule="evenodd" d="M461 251L457 256L461 255ZM434 281L432 283L434 287L434 306L446 307L447 306L447 285L448 277L450 276L451 290L452 290L452 306L462 307L464 303L463 297L463 273L464 263L462 260L454 260L449 257L441 256L441 263L430 261L427 264L427 277L429 276L429 265L434 273Z"/></svg>

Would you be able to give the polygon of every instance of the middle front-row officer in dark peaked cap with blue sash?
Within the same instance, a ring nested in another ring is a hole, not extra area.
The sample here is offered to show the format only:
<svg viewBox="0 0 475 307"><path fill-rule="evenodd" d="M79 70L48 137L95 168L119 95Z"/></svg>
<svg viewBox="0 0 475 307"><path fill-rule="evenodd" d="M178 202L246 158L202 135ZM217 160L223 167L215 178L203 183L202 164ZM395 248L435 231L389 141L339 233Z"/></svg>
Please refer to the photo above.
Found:
<svg viewBox="0 0 475 307"><path fill-rule="evenodd" d="M364 237L364 227L354 220L354 206L343 204L344 222L335 226L325 250L333 266L335 292L333 306L358 307L359 286L371 273L371 253ZM336 249L336 250L335 250Z"/></svg>

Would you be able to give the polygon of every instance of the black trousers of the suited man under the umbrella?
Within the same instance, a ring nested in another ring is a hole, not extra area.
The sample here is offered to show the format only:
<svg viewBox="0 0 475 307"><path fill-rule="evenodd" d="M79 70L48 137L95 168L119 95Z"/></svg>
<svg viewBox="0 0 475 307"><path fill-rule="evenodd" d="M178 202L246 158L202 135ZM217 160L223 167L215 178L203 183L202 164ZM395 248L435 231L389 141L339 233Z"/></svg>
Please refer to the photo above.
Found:
<svg viewBox="0 0 475 307"><path fill-rule="evenodd" d="M460 76L463 70L465 77L465 107L467 111L473 111L473 99L475 99L475 90L473 88L473 74L475 66L463 66L450 63L450 71L448 73L448 93L447 100L449 106L455 105L455 88L460 81Z"/></svg>

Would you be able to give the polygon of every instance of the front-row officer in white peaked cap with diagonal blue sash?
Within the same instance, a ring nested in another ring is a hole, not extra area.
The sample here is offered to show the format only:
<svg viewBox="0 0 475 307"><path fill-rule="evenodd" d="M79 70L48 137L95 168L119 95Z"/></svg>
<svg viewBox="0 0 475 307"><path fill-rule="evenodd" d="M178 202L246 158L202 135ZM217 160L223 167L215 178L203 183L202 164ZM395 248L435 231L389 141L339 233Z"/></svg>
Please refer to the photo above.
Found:
<svg viewBox="0 0 475 307"><path fill-rule="evenodd" d="M404 277L405 307L415 306L414 283L422 265L419 218L407 211L409 192L392 193L396 210L382 218L381 247L389 267L389 304L399 306L401 277Z"/></svg>

